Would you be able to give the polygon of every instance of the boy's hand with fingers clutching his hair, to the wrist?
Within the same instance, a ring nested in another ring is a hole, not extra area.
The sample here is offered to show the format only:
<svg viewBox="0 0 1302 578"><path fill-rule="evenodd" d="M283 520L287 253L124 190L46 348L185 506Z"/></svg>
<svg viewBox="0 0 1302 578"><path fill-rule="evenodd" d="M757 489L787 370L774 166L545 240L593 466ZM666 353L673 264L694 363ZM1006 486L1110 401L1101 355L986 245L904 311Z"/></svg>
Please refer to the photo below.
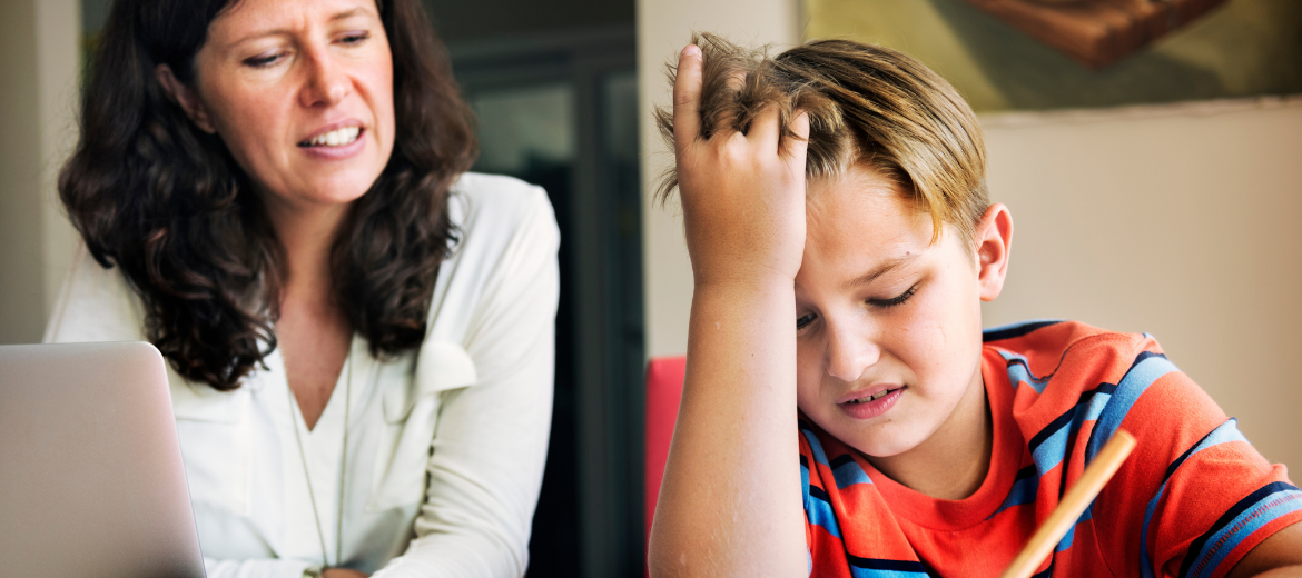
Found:
<svg viewBox="0 0 1302 578"><path fill-rule="evenodd" d="M809 116L780 138L779 108L764 108L749 130L700 138L700 48L678 57L673 141L687 253L697 286L790 282L805 250L805 148Z"/></svg>

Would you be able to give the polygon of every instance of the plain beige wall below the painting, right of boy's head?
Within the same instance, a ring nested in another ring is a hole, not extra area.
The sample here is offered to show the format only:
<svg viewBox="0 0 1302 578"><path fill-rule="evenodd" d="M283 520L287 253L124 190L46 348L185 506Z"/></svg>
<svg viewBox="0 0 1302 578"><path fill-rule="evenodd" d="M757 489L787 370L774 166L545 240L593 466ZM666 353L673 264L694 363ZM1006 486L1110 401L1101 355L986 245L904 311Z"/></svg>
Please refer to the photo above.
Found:
<svg viewBox="0 0 1302 578"><path fill-rule="evenodd" d="M991 197L1010 207L1014 230L986 324L1066 318L1152 333L1267 458L1302 469L1292 367L1302 96L983 125Z"/></svg>

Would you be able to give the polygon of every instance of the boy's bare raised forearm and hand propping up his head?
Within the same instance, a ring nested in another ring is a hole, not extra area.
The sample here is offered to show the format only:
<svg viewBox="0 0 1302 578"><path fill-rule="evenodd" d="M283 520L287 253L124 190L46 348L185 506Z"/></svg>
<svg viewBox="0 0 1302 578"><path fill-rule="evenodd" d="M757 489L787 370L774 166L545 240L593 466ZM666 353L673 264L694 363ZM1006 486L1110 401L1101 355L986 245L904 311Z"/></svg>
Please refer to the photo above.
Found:
<svg viewBox="0 0 1302 578"><path fill-rule="evenodd" d="M695 292L648 564L656 577L807 575L794 299L806 143L780 138L776 105L746 133L700 138L700 87L689 46L673 131ZM793 129L807 135L809 120Z"/></svg>

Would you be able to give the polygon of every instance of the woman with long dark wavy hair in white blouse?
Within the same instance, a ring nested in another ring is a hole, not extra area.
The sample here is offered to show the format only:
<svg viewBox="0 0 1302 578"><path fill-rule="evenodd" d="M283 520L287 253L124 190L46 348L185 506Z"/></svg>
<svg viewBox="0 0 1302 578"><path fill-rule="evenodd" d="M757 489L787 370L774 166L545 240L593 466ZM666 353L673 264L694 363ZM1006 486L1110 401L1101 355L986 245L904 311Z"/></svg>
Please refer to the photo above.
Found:
<svg viewBox="0 0 1302 578"><path fill-rule="evenodd" d="M91 73L47 341L168 359L208 575L521 575L559 234L419 4L118 0Z"/></svg>

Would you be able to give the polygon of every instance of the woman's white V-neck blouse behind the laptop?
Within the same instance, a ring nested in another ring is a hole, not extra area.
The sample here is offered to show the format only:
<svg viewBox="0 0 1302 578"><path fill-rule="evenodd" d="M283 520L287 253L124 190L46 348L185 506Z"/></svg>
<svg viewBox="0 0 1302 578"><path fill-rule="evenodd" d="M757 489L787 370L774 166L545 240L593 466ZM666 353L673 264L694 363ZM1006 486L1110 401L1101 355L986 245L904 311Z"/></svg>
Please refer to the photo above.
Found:
<svg viewBox="0 0 1302 578"><path fill-rule="evenodd" d="M543 190L513 178L465 174L449 204L460 241L419 351L381 361L354 336L314 430L279 350L229 393L168 368L210 578L298 578L337 560L376 578L525 573L551 426L560 233ZM46 341L145 340L143 319L125 279L82 250Z"/></svg>

